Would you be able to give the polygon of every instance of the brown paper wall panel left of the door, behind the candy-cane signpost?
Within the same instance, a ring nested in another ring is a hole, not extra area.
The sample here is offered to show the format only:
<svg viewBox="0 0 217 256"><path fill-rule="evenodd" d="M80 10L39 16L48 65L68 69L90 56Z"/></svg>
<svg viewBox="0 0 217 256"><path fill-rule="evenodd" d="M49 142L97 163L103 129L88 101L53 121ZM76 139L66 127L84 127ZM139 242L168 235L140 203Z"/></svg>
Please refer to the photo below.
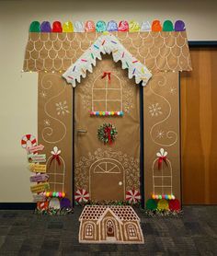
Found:
<svg viewBox="0 0 217 256"><path fill-rule="evenodd" d="M39 73L38 82L38 138L47 156L50 191L66 192L72 200L72 104L73 90L61 75ZM51 159L51 151L61 150L60 165Z"/></svg>

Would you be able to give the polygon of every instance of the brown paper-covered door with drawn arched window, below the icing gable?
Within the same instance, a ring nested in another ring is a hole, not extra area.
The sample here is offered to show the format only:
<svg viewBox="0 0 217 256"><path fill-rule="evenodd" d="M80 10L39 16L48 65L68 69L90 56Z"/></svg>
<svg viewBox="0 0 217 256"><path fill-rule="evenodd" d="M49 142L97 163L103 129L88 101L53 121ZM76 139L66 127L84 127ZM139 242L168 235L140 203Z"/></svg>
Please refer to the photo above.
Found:
<svg viewBox="0 0 217 256"><path fill-rule="evenodd" d="M102 78L104 72L109 76ZM94 116L90 111L123 111L120 116ZM110 56L97 61L92 74L74 94L74 190L85 189L91 201L123 201L140 189L139 86ZM97 138L103 123L112 123L118 136L112 145Z"/></svg>

